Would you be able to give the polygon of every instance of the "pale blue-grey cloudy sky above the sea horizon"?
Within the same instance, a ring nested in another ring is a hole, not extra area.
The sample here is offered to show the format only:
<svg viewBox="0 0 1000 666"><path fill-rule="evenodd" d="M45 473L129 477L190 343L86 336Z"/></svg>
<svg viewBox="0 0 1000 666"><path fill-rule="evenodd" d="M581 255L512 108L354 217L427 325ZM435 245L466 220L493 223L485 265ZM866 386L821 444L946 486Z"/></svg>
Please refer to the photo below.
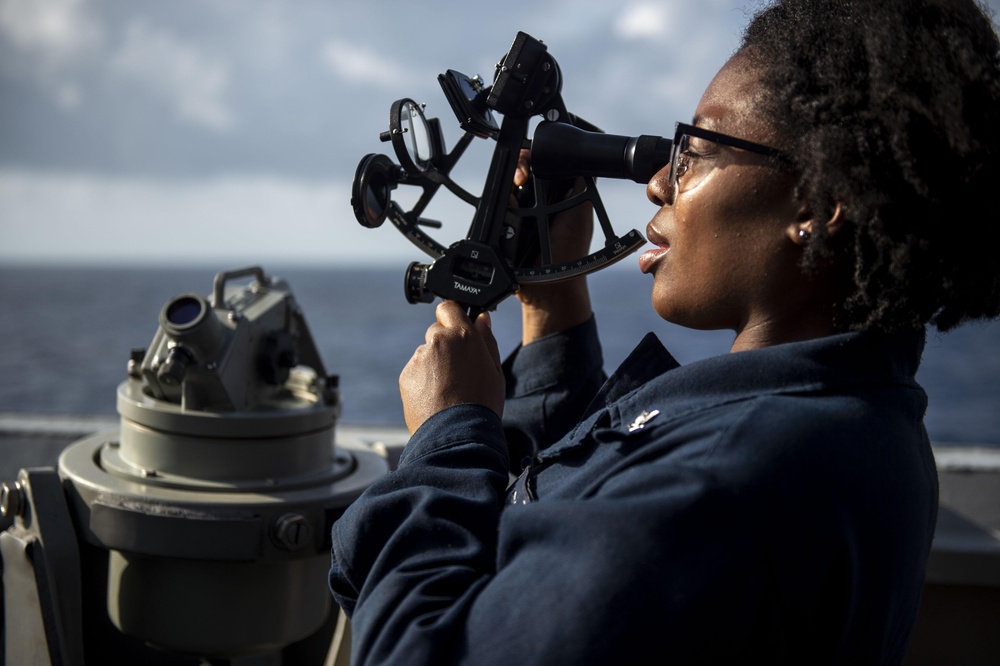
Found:
<svg viewBox="0 0 1000 666"><path fill-rule="evenodd" d="M0 0L0 263L426 260L350 206L359 161L392 154L378 135L393 101L426 103L451 148L461 130L438 74L489 82L524 31L559 63L569 111L609 133L669 135L754 6ZM475 194L494 145L476 139L456 168ZM641 185L599 190L616 230L645 227ZM459 230L437 240L458 240L471 208L447 193L434 205Z"/></svg>

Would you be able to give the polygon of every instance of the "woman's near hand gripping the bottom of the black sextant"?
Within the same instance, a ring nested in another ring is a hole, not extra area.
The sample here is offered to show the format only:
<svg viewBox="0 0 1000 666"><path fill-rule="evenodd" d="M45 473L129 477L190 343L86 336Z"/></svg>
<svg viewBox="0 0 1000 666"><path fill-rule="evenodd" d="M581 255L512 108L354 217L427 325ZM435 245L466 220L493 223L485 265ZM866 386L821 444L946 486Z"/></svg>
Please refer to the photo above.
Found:
<svg viewBox="0 0 1000 666"><path fill-rule="evenodd" d="M427 329L399 376L403 416L412 434L434 414L474 403L503 414L505 382L489 314L475 324L454 301L437 306L437 322Z"/></svg>

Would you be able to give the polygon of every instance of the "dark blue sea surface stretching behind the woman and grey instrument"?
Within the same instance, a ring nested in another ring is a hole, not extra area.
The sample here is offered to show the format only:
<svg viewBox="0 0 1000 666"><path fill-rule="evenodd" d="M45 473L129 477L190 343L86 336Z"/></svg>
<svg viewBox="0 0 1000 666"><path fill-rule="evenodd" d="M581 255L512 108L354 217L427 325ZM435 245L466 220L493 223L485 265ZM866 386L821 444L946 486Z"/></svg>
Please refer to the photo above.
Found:
<svg viewBox="0 0 1000 666"><path fill-rule="evenodd" d="M130 350L149 346L163 305L210 294L215 274L232 268L0 267L0 412L115 414ZM405 266L263 268L289 282L327 372L339 375L341 423L403 426L397 378L434 316L406 302ZM631 265L590 282L609 371L647 331L682 363L728 350L730 332L660 320L649 277ZM513 298L494 314L501 353L518 342L518 314ZM930 332L918 380L932 441L1000 447L1000 323Z"/></svg>

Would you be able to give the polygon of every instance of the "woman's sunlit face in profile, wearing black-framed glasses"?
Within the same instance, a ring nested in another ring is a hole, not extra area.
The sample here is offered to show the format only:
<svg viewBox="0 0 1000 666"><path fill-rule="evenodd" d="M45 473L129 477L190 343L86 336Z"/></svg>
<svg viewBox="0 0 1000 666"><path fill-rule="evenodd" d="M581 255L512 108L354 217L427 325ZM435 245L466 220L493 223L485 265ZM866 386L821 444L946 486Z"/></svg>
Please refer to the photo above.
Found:
<svg viewBox="0 0 1000 666"><path fill-rule="evenodd" d="M738 53L708 86L693 124L781 148L755 113L760 91L750 59ZM646 228L657 247L639 260L654 277L653 307L691 328L766 332L797 307L802 223L794 177L757 153L702 139L690 149L695 184L682 176L675 192L666 167L646 189L660 206Z"/></svg>

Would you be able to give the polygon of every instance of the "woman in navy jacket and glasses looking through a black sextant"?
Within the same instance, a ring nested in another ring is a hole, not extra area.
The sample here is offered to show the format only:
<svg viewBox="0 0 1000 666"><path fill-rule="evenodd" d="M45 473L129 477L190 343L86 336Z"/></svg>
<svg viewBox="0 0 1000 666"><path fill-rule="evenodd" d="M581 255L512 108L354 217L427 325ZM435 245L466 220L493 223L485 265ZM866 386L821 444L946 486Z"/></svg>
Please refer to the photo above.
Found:
<svg viewBox="0 0 1000 666"><path fill-rule="evenodd" d="M650 335L605 382L581 280L519 293L501 364L442 303L399 469L334 526L356 660L898 662L937 506L923 328L1000 313L998 53L971 0L755 17L648 185L639 260L657 313L731 354L679 367Z"/></svg>

